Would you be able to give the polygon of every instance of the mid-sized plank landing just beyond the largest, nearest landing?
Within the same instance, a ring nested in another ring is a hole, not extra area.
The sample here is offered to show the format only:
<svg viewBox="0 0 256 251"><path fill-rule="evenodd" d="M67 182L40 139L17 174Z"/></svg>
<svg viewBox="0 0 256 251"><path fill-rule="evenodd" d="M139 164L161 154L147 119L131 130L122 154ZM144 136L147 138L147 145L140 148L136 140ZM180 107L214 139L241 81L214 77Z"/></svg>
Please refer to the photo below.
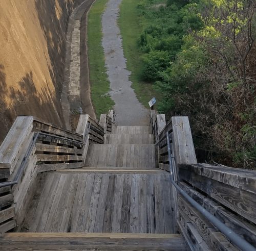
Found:
<svg viewBox="0 0 256 251"><path fill-rule="evenodd" d="M92 144L85 167L156 168L154 144Z"/></svg>

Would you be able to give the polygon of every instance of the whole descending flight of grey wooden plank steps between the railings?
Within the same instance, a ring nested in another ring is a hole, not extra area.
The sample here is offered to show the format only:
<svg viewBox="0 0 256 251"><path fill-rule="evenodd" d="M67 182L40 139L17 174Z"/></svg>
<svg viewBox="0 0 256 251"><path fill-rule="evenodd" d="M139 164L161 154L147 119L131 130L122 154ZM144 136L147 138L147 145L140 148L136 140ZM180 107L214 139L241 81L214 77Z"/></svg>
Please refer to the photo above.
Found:
<svg viewBox="0 0 256 251"><path fill-rule="evenodd" d="M149 127L113 127L83 168L38 175L23 233L4 234L0 250L188 250L155 152Z"/></svg>

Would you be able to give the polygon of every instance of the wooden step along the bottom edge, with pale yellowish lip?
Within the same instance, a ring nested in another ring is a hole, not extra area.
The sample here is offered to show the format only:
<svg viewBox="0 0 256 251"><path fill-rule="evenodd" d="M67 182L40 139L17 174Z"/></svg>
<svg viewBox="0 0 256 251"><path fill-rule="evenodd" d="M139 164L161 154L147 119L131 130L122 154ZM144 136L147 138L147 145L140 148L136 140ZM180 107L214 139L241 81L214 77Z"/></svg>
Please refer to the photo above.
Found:
<svg viewBox="0 0 256 251"><path fill-rule="evenodd" d="M178 234L6 233L0 250L188 250Z"/></svg>

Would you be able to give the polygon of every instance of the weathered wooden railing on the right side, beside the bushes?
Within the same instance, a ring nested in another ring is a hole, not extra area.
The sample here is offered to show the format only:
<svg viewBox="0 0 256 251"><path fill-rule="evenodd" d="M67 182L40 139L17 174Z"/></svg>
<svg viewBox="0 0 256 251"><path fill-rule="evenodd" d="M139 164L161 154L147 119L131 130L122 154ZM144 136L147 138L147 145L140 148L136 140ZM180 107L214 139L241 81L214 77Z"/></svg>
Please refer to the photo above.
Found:
<svg viewBox="0 0 256 251"><path fill-rule="evenodd" d="M198 164L187 117L172 117L157 140L159 167L169 171L169 135L174 179L179 187L233 232L256 247L256 171ZM177 228L193 250L240 250L176 193Z"/></svg>

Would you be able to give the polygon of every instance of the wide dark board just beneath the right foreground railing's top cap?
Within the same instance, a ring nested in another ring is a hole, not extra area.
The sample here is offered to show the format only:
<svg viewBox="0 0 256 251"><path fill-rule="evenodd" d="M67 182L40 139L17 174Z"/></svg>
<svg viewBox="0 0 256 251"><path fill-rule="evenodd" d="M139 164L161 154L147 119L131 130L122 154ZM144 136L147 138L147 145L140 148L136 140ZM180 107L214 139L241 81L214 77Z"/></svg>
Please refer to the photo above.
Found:
<svg viewBox="0 0 256 251"><path fill-rule="evenodd" d="M183 169L183 165L179 166L180 180L183 179L222 205L256 223L256 196L254 193L199 175L191 171L193 167ZM186 165L186 167L188 166Z"/></svg>

